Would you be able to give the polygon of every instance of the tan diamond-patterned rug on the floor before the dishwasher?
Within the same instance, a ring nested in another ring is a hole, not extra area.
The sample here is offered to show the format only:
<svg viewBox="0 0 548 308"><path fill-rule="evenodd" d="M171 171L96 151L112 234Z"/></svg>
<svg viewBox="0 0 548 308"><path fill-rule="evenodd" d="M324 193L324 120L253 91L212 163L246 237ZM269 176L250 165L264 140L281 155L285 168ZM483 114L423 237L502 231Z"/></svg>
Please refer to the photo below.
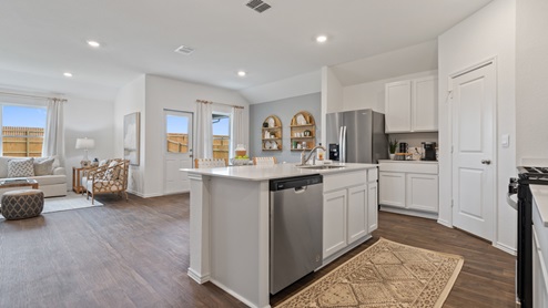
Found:
<svg viewBox="0 0 548 308"><path fill-rule="evenodd" d="M442 307L463 264L461 256L380 238L275 307Z"/></svg>

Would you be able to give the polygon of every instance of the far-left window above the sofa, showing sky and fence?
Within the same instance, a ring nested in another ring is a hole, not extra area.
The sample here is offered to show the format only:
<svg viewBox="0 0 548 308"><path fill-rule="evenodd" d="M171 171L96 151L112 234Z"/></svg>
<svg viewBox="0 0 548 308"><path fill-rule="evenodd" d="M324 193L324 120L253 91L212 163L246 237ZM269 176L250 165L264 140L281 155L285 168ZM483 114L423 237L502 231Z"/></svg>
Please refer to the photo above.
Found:
<svg viewBox="0 0 548 308"><path fill-rule="evenodd" d="M47 107L12 104L0 107L2 156L42 156Z"/></svg>

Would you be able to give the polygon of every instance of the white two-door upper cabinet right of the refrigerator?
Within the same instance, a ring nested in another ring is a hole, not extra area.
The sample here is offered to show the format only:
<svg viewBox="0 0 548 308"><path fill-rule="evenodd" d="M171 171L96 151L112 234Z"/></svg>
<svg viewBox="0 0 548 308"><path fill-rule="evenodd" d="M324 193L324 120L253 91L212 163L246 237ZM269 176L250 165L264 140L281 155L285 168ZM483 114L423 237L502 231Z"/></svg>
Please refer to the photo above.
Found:
<svg viewBox="0 0 548 308"><path fill-rule="evenodd" d="M386 133L437 132L437 78L385 85Z"/></svg>

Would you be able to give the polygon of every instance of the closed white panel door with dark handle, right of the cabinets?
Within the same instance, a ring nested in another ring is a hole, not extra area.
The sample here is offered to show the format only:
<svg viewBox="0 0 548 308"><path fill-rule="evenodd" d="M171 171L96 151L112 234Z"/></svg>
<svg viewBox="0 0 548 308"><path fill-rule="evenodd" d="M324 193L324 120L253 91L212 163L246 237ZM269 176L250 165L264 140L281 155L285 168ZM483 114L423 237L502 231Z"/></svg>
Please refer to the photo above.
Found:
<svg viewBox="0 0 548 308"><path fill-rule="evenodd" d="M493 62L453 78L453 224L494 240L495 107Z"/></svg>

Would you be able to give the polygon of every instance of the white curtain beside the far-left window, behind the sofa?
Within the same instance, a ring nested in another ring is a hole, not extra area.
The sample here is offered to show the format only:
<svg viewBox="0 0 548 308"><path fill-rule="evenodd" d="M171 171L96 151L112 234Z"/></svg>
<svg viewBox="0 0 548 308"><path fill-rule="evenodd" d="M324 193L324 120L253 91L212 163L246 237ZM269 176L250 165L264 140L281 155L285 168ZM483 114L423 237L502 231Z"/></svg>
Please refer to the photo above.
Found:
<svg viewBox="0 0 548 308"><path fill-rule="evenodd" d="M58 99L49 100L42 146L42 156L55 155L61 166L64 166L63 104L64 102Z"/></svg>

